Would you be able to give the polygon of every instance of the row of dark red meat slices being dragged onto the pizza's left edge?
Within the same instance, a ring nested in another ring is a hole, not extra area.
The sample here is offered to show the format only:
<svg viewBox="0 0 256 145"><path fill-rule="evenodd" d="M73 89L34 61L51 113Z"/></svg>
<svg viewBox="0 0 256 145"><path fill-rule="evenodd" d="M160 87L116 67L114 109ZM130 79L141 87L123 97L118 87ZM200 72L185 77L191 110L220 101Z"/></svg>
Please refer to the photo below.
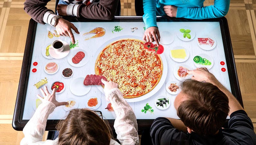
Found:
<svg viewBox="0 0 256 145"><path fill-rule="evenodd" d="M84 85L104 85L101 79L107 81L106 77L99 75L87 75L84 79Z"/></svg>

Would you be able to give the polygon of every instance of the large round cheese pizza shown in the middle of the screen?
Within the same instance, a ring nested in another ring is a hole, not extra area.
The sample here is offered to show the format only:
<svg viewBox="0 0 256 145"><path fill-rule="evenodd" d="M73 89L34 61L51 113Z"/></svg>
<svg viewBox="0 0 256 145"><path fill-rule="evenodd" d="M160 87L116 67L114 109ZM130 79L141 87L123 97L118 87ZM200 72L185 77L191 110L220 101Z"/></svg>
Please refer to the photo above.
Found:
<svg viewBox="0 0 256 145"><path fill-rule="evenodd" d="M119 84L124 98L150 92L163 74L161 57L146 52L143 44L138 39L120 39L107 45L96 59L95 74Z"/></svg>

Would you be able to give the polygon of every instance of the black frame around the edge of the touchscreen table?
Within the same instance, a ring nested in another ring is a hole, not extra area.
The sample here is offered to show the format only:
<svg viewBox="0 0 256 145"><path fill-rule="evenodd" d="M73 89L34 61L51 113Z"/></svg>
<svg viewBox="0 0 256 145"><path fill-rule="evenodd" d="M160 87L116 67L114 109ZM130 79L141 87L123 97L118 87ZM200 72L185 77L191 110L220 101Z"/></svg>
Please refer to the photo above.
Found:
<svg viewBox="0 0 256 145"><path fill-rule="evenodd" d="M106 20L91 20L91 19L79 19L75 17L66 17L66 20L69 20L70 22L138 22L143 21L142 17L140 16L116 16L114 20L106 21ZM234 53L232 49L230 34L229 34L229 28L227 24L227 20L225 17L218 18L218 19L207 19L207 20L190 20L190 19L183 19L183 18L170 18L170 17L162 17L157 16L157 21L184 21L184 22L197 22L197 21L217 21L220 22L220 28L221 28L221 34L222 34L222 40L224 45L224 51L226 56L226 66L227 70L229 72L229 80L231 85L231 92L232 94L237 98L237 100L240 102L240 104L243 106L242 96L240 92L240 87L238 83L237 78L237 72L235 67L235 61L234 61ZM21 75L20 75L20 81L18 86L18 93L16 98L16 104L13 114L13 128L17 131L22 131L24 126L29 120L22 120L23 116L23 110L25 105L25 99L26 99L26 92L27 92L27 85L28 85L28 79L30 74L30 66L31 66L31 59L32 59L32 53L34 48L34 40L35 40L35 34L36 34L36 28L37 28L37 22L34 20L30 20L29 22L29 28L28 28L28 34L27 34L27 40L25 45L25 51L23 56L23 62L22 62L22 69L21 69ZM152 122L154 119L137 119L138 123L138 129L139 131L150 128ZM58 120L48 120L46 125L46 130L56 130L55 126L57 124ZM108 120L111 128L114 130L114 119Z"/></svg>

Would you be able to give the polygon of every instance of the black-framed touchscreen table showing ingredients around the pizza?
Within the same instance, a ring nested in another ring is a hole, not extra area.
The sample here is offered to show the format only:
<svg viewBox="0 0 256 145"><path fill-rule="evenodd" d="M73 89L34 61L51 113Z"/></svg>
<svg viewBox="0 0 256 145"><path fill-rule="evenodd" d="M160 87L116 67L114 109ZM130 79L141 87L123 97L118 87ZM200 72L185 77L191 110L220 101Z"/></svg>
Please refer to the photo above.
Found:
<svg viewBox="0 0 256 145"><path fill-rule="evenodd" d="M69 110L74 108L99 110L104 119L108 119L110 126L113 126L115 113L110 109L110 102L105 99L102 86L85 86L84 79L87 75L96 73L97 58L107 46L129 40L143 45L145 24L141 17L116 17L112 21L83 20L73 23L80 31L79 35L74 34L75 44L70 43L69 37L58 36L55 28L50 25L30 21L13 117L14 129L22 130L33 116L41 103L36 95L41 94L40 88L44 85L50 92L52 88L57 88L57 101L70 103L68 107L57 107L49 115L46 130L54 130L57 121L65 119ZM139 130L150 127L157 117L178 118L173 101L180 92L181 81L191 77L183 73L186 69L208 68L242 104L225 18L187 20L158 17L157 25L161 34L160 44L164 47L164 52L158 55L162 65L161 77L154 88L142 96L126 99L135 112ZM55 52L51 46L56 39L64 43L62 52Z"/></svg>

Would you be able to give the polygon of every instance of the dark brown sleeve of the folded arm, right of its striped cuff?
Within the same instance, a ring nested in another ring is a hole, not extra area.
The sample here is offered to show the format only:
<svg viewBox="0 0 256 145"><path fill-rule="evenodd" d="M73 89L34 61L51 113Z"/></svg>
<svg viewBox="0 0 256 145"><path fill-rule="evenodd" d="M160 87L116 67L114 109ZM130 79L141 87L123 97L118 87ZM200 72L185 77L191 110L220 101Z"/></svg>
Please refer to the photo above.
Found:
<svg viewBox="0 0 256 145"><path fill-rule="evenodd" d="M80 4L77 8L78 18L112 20L115 17L118 0L100 0L90 5Z"/></svg>

